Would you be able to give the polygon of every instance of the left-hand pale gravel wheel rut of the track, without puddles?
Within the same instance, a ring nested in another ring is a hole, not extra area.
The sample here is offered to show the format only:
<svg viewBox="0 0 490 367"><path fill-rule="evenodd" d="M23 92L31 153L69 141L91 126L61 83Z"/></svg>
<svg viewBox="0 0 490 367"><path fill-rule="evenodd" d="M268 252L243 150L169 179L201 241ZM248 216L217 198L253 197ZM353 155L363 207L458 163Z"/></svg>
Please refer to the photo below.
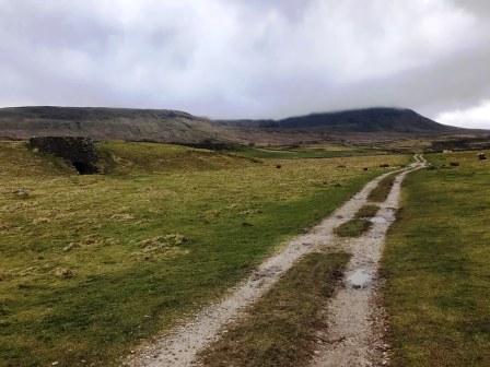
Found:
<svg viewBox="0 0 490 367"><path fill-rule="evenodd" d="M416 156L416 163L399 170L400 176L397 178L395 187L399 188L400 180L406 173L423 165L419 159L420 157ZM325 244L332 242L336 239L332 234L334 228L351 220L358 210L366 203L371 190L389 174L381 175L366 183L360 192L320 224L307 234L295 237L279 252L262 262L247 280L231 289L221 301L206 307L192 319L162 335L152 344L142 347L135 355L129 356L124 365L133 367L197 366L197 354L219 338L220 331L236 319L248 305L270 289L298 259L317 250ZM388 201L394 201L395 196L397 200L398 193L392 192ZM381 210L381 212L383 211L385 209Z"/></svg>

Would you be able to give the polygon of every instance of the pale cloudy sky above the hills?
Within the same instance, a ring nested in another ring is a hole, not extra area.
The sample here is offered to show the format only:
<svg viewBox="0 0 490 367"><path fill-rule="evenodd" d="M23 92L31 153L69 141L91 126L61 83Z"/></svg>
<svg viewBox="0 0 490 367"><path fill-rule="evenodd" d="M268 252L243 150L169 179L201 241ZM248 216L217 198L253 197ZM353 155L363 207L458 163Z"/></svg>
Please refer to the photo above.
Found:
<svg viewBox="0 0 490 367"><path fill-rule="evenodd" d="M0 107L26 105L490 128L490 1L0 0Z"/></svg>

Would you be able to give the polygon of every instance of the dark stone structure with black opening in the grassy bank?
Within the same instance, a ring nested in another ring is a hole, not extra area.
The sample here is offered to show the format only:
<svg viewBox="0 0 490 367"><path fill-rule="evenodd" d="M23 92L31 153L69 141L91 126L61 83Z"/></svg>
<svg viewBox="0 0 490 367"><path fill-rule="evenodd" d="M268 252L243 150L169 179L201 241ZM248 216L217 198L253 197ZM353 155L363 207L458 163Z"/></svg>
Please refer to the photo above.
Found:
<svg viewBox="0 0 490 367"><path fill-rule="evenodd" d="M68 161L81 175L96 174L97 152L92 139L83 137L38 137L30 146Z"/></svg>

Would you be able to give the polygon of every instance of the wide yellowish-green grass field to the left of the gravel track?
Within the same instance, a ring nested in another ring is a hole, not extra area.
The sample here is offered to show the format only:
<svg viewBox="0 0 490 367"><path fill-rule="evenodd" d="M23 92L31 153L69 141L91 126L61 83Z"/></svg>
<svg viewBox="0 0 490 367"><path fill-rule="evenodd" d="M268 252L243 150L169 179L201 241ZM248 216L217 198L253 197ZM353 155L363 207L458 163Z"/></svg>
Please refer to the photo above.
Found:
<svg viewBox="0 0 490 367"><path fill-rule="evenodd" d="M118 365L331 213L380 164L408 161L100 150L109 174L79 176L0 143L0 366Z"/></svg>

